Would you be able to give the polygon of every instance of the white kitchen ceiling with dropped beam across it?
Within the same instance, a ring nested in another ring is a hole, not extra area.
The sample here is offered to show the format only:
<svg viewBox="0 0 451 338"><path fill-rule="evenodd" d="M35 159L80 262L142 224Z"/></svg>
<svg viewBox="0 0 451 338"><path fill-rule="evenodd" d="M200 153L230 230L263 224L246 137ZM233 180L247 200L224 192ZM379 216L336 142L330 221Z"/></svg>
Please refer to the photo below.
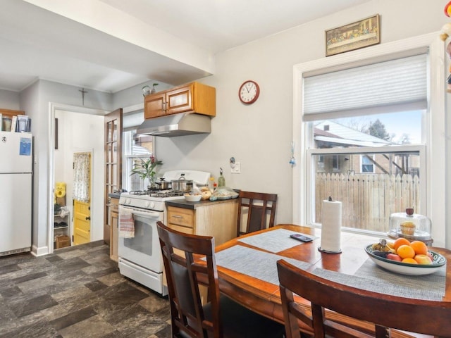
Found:
<svg viewBox="0 0 451 338"><path fill-rule="evenodd" d="M44 79L114 93L211 75L221 51L370 0L0 1L0 89Z"/></svg>

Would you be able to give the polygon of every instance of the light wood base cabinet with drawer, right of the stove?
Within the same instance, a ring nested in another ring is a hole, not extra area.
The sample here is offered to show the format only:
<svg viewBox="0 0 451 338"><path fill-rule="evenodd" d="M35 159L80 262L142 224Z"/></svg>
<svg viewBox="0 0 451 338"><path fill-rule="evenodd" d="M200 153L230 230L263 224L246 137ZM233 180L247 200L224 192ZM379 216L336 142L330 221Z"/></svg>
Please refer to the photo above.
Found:
<svg viewBox="0 0 451 338"><path fill-rule="evenodd" d="M191 207L191 206L190 206ZM206 202L185 206L168 206L166 224L187 234L215 237L215 244L223 244L237 235L238 201Z"/></svg>

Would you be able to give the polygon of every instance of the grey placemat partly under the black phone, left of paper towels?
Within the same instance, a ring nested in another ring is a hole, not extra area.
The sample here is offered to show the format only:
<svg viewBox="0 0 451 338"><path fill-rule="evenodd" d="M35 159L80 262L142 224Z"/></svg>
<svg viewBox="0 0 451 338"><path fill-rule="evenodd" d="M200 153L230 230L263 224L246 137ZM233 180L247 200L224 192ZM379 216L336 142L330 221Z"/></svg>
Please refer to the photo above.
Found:
<svg viewBox="0 0 451 338"><path fill-rule="evenodd" d="M304 244L297 239L290 238L290 234L302 234L302 232L295 232L286 229L278 229L261 234L255 234L254 236L244 237L238 239L242 243L246 243L255 246L260 249L264 249L270 252L279 252L286 249L290 249L293 246ZM316 239L318 237L311 234L304 234L305 236Z"/></svg>

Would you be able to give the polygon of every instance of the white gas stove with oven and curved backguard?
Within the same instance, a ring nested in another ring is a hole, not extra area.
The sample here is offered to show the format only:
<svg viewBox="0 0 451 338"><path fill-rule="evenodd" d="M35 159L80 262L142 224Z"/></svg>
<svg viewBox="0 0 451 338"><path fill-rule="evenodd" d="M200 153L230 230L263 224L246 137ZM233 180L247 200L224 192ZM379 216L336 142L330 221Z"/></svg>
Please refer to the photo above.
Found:
<svg viewBox="0 0 451 338"><path fill-rule="evenodd" d="M173 170L163 175L166 182L185 180L196 185L206 185L210 173L196 170ZM164 222L165 202L183 198L184 192L173 190L151 190L145 192L122 193L119 199L119 271L149 289L165 296L168 288L163 283L163 258L156 223ZM121 235L121 220L128 224L127 234ZM130 236L130 222L133 224Z"/></svg>

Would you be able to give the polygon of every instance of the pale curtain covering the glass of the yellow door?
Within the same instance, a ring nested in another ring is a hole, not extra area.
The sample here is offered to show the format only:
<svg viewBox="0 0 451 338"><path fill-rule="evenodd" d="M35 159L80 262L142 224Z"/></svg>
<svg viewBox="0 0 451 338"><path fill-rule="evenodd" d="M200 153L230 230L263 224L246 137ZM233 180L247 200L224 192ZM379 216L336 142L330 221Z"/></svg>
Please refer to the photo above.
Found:
<svg viewBox="0 0 451 338"><path fill-rule="evenodd" d="M73 162L73 199L81 202L89 202L91 154L74 154Z"/></svg>

